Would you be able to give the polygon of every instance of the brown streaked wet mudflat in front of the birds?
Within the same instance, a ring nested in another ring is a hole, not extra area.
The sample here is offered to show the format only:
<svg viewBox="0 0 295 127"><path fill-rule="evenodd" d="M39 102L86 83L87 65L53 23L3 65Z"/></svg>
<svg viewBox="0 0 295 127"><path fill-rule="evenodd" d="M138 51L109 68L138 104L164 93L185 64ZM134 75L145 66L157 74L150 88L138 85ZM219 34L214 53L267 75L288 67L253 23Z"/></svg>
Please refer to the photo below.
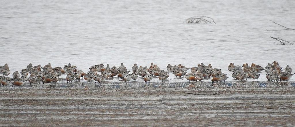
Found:
<svg viewBox="0 0 295 127"><path fill-rule="evenodd" d="M294 82L85 81L0 89L0 126L294 126ZM11 87L11 86L10 86ZM186 93L182 93L186 92ZM202 95L193 95L202 94Z"/></svg>

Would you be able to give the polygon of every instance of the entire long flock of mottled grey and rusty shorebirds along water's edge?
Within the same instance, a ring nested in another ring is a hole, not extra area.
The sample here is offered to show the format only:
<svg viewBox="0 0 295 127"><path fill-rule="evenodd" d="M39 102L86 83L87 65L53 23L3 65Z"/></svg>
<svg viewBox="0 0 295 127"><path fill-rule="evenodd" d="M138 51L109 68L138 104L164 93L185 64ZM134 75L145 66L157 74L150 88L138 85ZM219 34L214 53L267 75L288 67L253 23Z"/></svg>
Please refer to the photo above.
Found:
<svg viewBox="0 0 295 127"><path fill-rule="evenodd" d="M239 65L235 66L235 64L230 63L228 70L232 72L233 78L240 81L245 79L247 80L248 78L253 78L254 80L257 79L258 81L258 78L260 77L259 73L263 70L265 70L267 73L266 78L271 81L288 81L294 75L294 73L291 73L292 69L289 67L289 65L287 65L285 71L282 72L282 68L276 61L274 61L273 64L268 64L265 68L256 64L251 64L251 66L248 64L243 64L242 67ZM43 70L41 71L41 69ZM8 77L10 74L9 66L5 64L4 66L0 66L0 73L3 74L3 76L0 76L0 83L2 84L2 87L7 87L10 83L12 84L12 87L21 87L27 81L30 83L30 85L33 85L34 83L40 84L41 81L43 85L44 83L56 84L56 82L59 80L59 76L62 74L67 75L67 83L72 82L75 79L80 81L81 78L84 78L87 83L94 79L95 83L98 82L98 84L107 81L108 78L113 78L114 76L117 76L118 79L121 78L125 84L130 80L136 81L140 76L144 79L145 83L150 82L154 77L157 76L159 80L162 81L162 83L165 83L169 77L169 73L173 73L176 78L181 78L184 76L189 81L202 81L204 78L212 77L212 84L215 81L221 82L227 80L228 78L226 74L221 72L221 69L213 68L211 64L206 66L203 63L191 68L187 68L181 64L178 64L178 66L171 66L168 64L167 71L161 70L153 63L151 63L149 68L147 66L138 67L137 64L134 64L134 66L132 66L131 74L131 71L127 71L123 63L121 63L121 66L118 68L116 66L110 68L109 64L107 64L106 67L104 64L97 64L91 66L89 69L90 71L84 73L82 70L78 70L76 66L71 65L70 63L65 65L63 68L52 68L50 63L43 67L40 65L32 66L32 64L29 64L27 68L22 69L20 73L15 71L12 74L12 78L10 78ZM190 70L190 73L187 73L187 70ZM101 73L98 74L98 72ZM30 76L27 77L29 73Z"/></svg>

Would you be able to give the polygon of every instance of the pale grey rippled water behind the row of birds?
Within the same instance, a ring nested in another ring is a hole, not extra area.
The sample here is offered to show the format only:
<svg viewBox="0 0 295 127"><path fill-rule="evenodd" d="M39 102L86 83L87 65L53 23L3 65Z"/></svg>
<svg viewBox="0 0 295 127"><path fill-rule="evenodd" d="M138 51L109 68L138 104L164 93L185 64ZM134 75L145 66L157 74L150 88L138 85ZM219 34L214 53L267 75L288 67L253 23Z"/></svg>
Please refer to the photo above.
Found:
<svg viewBox="0 0 295 127"><path fill-rule="evenodd" d="M275 45L269 36L293 41L295 1L1 1L1 65L11 72L27 64L91 65L121 62L131 69L168 63L199 63L227 70L230 63L265 67L278 61L295 68L294 45ZM191 16L217 24L183 24ZM166 70L166 69L165 69ZM265 81L265 72L260 81ZM294 77L292 78L294 81Z"/></svg>

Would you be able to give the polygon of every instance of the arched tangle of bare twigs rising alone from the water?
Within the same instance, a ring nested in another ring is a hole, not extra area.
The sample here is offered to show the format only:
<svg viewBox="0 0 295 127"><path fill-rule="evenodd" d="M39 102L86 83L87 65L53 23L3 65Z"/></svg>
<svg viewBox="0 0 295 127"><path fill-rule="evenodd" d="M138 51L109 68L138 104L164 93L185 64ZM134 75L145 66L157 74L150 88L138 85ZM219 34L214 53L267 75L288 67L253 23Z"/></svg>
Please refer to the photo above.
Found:
<svg viewBox="0 0 295 127"><path fill-rule="evenodd" d="M214 19L211 18L211 17L207 17L207 16L195 16L195 17L191 17L189 19L186 19L185 21L183 21L183 23L186 23L186 24L191 24L191 23L194 23L194 24L216 24Z"/></svg>

